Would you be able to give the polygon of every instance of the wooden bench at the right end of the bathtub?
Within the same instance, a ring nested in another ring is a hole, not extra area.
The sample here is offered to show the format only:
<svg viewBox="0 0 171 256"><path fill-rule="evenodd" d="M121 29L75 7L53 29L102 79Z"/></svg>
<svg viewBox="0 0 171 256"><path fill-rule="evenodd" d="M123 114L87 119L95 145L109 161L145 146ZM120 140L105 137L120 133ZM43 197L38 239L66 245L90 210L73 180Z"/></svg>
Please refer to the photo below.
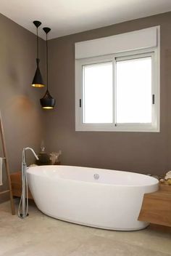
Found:
<svg viewBox="0 0 171 256"><path fill-rule="evenodd" d="M171 227L171 185L159 185L159 191L145 193L138 220Z"/></svg>

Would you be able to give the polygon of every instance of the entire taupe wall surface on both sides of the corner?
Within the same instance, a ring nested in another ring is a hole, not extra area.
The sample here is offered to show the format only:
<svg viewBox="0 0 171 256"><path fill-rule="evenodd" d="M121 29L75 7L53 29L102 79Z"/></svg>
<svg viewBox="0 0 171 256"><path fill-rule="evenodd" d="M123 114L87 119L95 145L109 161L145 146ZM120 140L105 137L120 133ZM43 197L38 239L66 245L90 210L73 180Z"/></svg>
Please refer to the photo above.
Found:
<svg viewBox="0 0 171 256"><path fill-rule="evenodd" d="M154 25L161 25L161 132L75 132L75 42ZM45 89L30 87L36 36L3 15L0 28L0 110L11 172L20 169L22 148L39 151L43 138L49 152L62 150L62 164L152 174L171 168L171 12L49 41L49 86L57 100L53 111L41 110ZM44 74L43 40L40 56ZM5 185L4 177L0 190Z"/></svg>

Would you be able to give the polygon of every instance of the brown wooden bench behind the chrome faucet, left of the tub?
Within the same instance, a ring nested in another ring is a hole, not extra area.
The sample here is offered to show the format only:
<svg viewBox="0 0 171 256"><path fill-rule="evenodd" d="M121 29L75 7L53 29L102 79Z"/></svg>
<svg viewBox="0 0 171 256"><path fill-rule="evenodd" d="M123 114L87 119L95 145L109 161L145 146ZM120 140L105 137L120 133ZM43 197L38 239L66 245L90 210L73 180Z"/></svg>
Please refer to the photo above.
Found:
<svg viewBox="0 0 171 256"><path fill-rule="evenodd" d="M12 196L21 197L22 193L22 182L21 182L21 172L13 172L11 175L11 183L12 183ZM33 196L30 193L28 188L28 198L33 199Z"/></svg>

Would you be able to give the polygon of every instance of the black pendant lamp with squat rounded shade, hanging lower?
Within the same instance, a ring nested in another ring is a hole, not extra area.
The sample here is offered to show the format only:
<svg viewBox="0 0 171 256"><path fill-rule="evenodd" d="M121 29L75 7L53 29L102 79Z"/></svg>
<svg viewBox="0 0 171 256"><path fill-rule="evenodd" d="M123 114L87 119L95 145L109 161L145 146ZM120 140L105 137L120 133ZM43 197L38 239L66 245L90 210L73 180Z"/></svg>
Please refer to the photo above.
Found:
<svg viewBox="0 0 171 256"><path fill-rule="evenodd" d="M47 90L46 94L41 98L41 106L45 109L54 108L55 99L51 97L49 93L49 84L48 84L48 39L47 34L51 31L51 28L43 28L43 31L46 33L46 76L47 76Z"/></svg>

